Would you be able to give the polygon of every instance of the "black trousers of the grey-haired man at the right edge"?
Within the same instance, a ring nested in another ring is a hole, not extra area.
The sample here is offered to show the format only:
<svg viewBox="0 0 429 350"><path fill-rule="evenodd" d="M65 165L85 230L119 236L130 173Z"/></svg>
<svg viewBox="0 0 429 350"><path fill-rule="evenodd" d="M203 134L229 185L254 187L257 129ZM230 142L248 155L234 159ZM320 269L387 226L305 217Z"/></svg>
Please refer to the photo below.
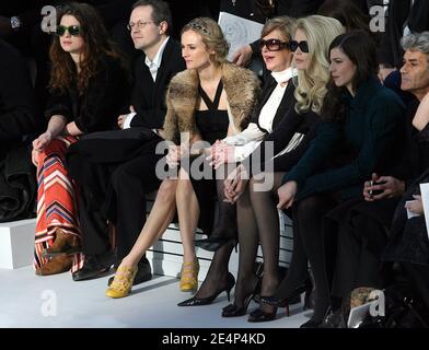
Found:
<svg viewBox="0 0 429 350"><path fill-rule="evenodd" d="M324 220L325 234L336 235L335 255L328 268L333 271L333 296L344 298L357 287L381 289L386 281L380 262L392 224L397 198L367 202L355 198L328 212ZM329 255L327 255L329 259Z"/></svg>

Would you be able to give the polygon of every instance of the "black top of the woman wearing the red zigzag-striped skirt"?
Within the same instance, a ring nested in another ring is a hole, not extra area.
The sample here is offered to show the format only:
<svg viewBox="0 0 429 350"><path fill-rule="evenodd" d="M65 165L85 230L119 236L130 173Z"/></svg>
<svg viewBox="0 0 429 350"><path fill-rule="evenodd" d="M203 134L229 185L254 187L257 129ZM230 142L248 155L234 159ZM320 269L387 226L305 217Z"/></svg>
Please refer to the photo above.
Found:
<svg viewBox="0 0 429 350"><path fill-rule="evenodd" d="M118 60L102 56L98 72L83 94L79 95L76 89L51 92L45 116L49 119L62 115L83 133L108 130L116 127L117 117L128 109L129 94L128 72Z"/></svg>

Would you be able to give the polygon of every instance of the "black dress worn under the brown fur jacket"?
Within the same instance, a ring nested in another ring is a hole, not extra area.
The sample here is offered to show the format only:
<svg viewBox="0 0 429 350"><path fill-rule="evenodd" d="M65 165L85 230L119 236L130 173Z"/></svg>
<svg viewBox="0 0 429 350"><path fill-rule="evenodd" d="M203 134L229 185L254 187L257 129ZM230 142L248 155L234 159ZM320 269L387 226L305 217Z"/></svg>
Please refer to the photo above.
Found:
<svg viewBox="0 0 429 350"><path fill-rule="evenodd" d="M208 109L196 110L195 119L202 140L210 144L215 143L216 140L225 138L228 133L228 110L218 109L222 90L223 83L220 81L216 91L215 100L211 101L202 88L198 86L199 95L206 103ZM196 160L197 159L194 159L192 162L195 162ZM210 165L208 165L207 162L201 162L201 166L199 168L202 172L204 168L209 168L209 166ZM210 172L210 176L204 176L204 178L197 178L190 174L190 180L197 196L200 210L198 228L201 229L205 234L210 234L213 226L215 202L217 198L215 171Z"/></svg>

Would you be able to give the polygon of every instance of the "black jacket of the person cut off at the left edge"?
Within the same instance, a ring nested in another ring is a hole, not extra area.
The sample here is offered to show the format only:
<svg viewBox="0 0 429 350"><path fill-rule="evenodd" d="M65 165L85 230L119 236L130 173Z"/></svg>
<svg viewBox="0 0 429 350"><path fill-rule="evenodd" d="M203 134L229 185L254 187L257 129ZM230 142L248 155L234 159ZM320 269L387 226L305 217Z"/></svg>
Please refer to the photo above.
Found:
<svg viewBox="0 0 429 350"><path fill-rule="evenodd" d="M37 114L26 65L19 51L0 39L0 142L20 141L43 122Z"/></svg>

